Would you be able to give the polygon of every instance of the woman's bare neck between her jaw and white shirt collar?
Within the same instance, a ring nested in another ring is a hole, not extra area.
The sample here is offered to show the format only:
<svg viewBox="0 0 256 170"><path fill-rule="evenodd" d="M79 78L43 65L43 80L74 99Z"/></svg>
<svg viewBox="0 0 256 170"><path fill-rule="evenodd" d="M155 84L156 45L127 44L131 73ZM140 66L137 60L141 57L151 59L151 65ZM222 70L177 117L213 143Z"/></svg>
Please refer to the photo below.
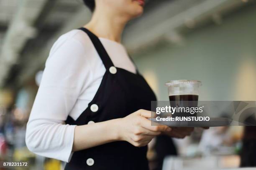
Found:
<svg viewBox="0 0 256 170"><path fill-rule="evenodd" d="M98 37L121 42L123 29L127 22L128 19L125 17L95 11L90 22L84 25L84 27Z"/></svg>

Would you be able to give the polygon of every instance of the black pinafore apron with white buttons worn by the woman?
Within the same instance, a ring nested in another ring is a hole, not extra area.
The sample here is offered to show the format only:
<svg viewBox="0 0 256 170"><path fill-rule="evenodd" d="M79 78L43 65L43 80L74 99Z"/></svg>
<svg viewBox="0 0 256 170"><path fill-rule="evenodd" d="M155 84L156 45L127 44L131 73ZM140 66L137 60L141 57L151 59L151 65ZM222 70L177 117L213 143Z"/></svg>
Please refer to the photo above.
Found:
<svg viewBox="0 0 256 170"><path fill-rule="evenodd" d="M80 28L90 37L106 72L94 98L82 114L69 125L86 125L125 117L139 109L151 110L151 101L156 96L146 80L115 67L96 35ZM88 137L87 137L88 138ZM147 146L135 147L126 141L117 141L74 152L65 170L148 170Z"/></svg>

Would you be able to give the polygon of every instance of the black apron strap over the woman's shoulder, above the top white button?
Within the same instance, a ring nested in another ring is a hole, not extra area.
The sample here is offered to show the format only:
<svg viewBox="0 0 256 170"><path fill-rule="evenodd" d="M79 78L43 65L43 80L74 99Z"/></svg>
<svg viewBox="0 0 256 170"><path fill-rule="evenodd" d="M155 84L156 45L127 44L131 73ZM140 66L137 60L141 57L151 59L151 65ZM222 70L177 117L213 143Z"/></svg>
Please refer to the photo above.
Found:
<svg viewBox="0 0 256 170"><path fill-rule="evenodd" d="M100 42L100 39L94 35L92 32L87 30L86 28L79 28L79 30L84 31L91 39L95 49L97 50L106 70L108 70L110 67L114 66L112 60L110 59L108 52L105 50L104 46Z"/></svg>

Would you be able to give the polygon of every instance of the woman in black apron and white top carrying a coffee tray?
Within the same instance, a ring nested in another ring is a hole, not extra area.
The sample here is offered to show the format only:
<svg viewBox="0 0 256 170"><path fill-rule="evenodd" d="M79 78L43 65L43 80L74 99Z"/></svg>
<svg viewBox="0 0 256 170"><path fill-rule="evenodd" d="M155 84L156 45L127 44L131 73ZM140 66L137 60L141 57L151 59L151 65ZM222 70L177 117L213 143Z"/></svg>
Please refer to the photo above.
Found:
<svg viewBox="0 0 256 170"><path fill-rule="evenodd" d="M156 135L184 138L191 129L151 126L154 92L121 42L144 0L84 0L83 28L62 35L46 61L27 125L32 152L67 162L65 170L147 170Z"/></svg>

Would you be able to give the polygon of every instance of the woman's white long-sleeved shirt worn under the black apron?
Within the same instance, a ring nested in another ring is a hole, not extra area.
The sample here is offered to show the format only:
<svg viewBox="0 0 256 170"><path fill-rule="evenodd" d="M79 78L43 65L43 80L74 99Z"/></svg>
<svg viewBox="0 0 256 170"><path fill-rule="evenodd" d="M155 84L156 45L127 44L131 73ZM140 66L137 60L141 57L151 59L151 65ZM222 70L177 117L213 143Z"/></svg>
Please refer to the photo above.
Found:
<svg viewBox="0 0 256 170"><path fill-rule="evenodd" d="M135 73L120 43L100 38L115 67ZM90 38L82 30L62 35L51 48L26 130L28 149L38 155L69 162L76 120L94 97L106 69ZM85 137L87 138L87 137Z"/></svg>

